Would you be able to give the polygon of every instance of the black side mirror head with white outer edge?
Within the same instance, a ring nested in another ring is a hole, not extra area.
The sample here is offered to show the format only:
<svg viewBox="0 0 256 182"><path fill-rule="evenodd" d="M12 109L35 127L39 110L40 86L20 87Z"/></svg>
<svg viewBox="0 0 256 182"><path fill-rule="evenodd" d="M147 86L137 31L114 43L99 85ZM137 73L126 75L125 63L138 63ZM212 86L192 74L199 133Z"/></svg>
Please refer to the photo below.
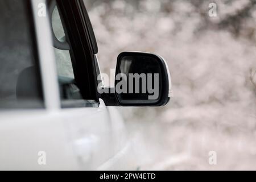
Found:
<svg viewBox="0 0 256 182"><path fill-rule="evenodd" d="M144 52L122 52L117 58L115 102L119 106L163 106L170 100L166 61Z"/></svg>

